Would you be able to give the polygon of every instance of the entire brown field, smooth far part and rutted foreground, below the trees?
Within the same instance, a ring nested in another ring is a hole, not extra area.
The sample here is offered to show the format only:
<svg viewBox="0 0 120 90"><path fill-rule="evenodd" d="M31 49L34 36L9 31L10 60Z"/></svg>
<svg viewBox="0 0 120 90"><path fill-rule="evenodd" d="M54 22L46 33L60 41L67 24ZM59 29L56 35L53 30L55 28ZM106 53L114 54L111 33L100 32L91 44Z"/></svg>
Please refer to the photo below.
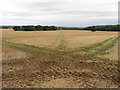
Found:
<svg viewBox="0 0 120 90"><path fill-rule="evenodd" d="M3 87L118 87L117 32L2 32Z"/></svg>

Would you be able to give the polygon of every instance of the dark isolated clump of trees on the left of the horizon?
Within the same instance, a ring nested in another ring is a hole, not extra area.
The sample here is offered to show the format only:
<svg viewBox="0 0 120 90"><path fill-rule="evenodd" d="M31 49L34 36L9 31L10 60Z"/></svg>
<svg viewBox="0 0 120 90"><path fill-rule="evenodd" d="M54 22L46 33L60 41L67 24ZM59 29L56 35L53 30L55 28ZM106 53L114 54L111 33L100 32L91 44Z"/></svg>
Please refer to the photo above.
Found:
<svg viewBox="0 0 120 90"><path fill-rule="evenodd" d="M57 30L55 26L14 26L15 31L54 31Z"/></svg>

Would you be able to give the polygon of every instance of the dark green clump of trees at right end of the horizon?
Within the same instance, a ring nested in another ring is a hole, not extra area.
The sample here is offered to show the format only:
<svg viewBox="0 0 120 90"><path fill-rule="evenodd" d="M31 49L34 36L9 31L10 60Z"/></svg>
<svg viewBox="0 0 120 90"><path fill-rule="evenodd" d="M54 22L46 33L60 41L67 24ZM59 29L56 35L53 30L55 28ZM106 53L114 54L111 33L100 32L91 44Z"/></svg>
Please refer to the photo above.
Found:
<svg viewBox="0 0 120 90"><path fill-rule="evenodd" d="M83 30L91 30L91 31L120 31L120 25L89 26L89 27L83 28Z"/></svg>

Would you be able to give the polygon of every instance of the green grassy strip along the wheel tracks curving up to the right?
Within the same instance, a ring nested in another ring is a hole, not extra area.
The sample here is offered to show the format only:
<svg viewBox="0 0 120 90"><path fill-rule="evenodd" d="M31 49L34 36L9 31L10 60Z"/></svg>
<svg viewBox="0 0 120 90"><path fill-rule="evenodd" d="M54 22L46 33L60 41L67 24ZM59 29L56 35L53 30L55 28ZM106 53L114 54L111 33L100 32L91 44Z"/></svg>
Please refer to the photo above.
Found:
<svg viewBox="0 0 120 90"><path fill-rule="evenodd" d="M95 53L100 51L100 53L98 55L107 55L109 54L109 52L106 52L106 49L111 48L112 46L114 46L114 44L117 41L117 38L114 38L113 40L111 40L112 38L109 38L107 40L104 40L102 42L98 42L89 46L82 46L81 48L83 48L83 50L81 50L80 52L74 52L75 55L84 55L84 54L88 54L88 53ZM111 40L110 42L108 42L109 40ZM105 42L108 42L107 44ZM92 47L91 47L92 46ZM97 46L97 47L96 47ZM99 46L99 47L98 47ZM105 50L104 50L105 49ZM103 52L101 52L101 50L104 50ZM85 52L85 53L84 53ZM96 54L97 55L97 54ZM96 56L95 55L95 56Z"/></svg>

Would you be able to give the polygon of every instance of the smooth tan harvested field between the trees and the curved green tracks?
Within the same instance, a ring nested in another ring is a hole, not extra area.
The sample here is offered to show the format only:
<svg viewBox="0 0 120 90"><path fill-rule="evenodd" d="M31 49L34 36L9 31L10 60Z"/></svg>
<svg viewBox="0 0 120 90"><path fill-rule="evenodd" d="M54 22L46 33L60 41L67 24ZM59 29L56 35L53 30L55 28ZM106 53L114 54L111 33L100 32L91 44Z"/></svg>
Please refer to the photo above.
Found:
<svg viewBox="0 0 120 90"><path fill-rule="evenodd" d="M3 30L3 40L15 43L35 45L39 47L54 47L61 43L67 47L75 48L97 43L117 36L117 32L91 32L79 30L67 31L13 31Z"/></svg>

